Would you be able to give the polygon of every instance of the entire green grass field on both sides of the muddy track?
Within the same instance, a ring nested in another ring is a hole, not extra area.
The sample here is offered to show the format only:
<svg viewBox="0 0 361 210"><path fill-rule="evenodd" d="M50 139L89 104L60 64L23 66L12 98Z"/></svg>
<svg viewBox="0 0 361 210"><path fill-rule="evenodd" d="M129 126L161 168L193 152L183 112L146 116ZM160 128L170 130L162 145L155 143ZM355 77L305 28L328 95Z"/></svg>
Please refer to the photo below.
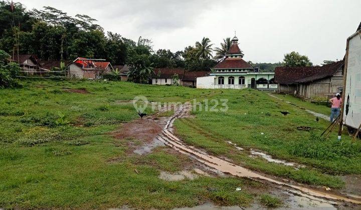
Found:
<svg viewBox="0 0 361 210"><path fill-rule="evenodd" d="M0 89L0 207L173 208L206 201L249 206L260 196L265 205L281 203L252 190L267 191L264 184L244 178L159 179L160 171L183 170L184 163L193 160L167 147L138 155L129 152L129 139L109 134L121 123L138 118L132 104L125 102L136 95L160 102L201 96L229 99L227 112L194 111L195 118L176 120L176 131L187 143L249 168L331 187L343 187L335 174L361 173L359 143L351 143L347 136L338 142L335 133L329 139L317 137L326 121L317 123L312 115L256 90L104 81L34 80L22 84L22 88ZM278 112L284 109L292 114L284 117ZM146 112L151 114L150 108ZM298 125L314 130L298 131ZM225 140L306 168L296 170L249 157ZM243 190L235 191L236 187Z"/></svg>

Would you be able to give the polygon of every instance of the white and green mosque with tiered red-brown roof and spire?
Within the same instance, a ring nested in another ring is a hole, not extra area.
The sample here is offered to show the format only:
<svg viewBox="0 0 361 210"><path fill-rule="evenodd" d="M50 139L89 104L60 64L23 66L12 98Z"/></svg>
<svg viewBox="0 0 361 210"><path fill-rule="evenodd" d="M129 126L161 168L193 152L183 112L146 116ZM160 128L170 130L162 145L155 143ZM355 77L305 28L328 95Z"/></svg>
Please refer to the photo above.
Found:
<svg viewBox="0 0 361 210"><path fill-rule="evenodd" d="M199 77L197 88L259 88L276 89L274 72L260 72L243 59L243 52L238 46L237 36L232 39L232 46L209 76Z"/></svg>

